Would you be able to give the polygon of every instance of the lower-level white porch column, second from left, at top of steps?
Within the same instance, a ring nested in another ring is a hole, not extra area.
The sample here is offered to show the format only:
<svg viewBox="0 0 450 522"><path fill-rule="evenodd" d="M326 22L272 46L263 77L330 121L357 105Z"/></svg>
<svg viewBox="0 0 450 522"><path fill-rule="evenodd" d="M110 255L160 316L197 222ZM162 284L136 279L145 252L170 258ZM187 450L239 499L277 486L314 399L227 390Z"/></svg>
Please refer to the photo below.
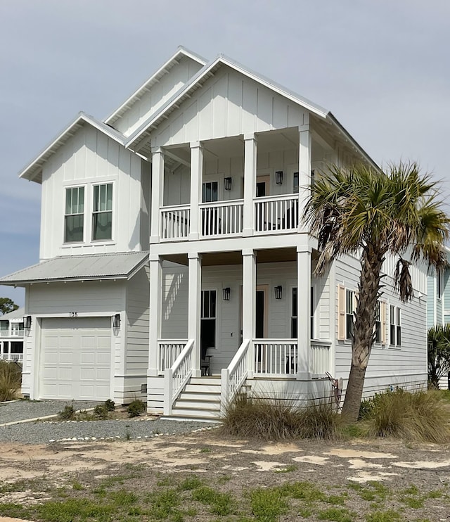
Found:
<svg viewBox="0 0 450 522"><path fill-rule="evenodd" d="M192 375L200 377L200 301L202 295L202 258L197 252L188 254L188 339L194 340Z"/></svg>

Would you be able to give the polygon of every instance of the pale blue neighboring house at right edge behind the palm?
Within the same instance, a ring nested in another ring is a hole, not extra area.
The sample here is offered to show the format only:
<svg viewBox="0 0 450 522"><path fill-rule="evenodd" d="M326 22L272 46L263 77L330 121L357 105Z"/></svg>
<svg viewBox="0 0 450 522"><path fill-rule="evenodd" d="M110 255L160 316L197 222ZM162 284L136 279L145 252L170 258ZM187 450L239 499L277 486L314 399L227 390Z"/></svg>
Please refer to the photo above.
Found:
<svg viewBox="0 0 450 522"><path fill-rule="evenodd" d="M450 323L450 248L446 247L449 267L437 274L435 270L428 275L427 329L437 324ZM448 377L442 377L439 388L449 388Z"/></svg>

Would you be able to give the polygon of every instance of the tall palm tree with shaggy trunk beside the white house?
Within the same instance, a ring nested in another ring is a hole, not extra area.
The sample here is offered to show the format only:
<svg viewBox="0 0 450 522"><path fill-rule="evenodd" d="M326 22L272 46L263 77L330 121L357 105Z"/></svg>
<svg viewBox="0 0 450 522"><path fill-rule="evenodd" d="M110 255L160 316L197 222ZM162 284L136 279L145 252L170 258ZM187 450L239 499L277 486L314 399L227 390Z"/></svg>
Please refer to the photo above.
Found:
<svg viewBox="0 0 450 522"><path fill-rule="evenodd" d="M359 414L386 256L397 258L395 286L404 302L413 298L411 262L423 260L438 271L446 265L450 219L438 197L437 182L421 174L416 163L390 165L388 172L334 165L311 186L304 219L319 243L316 273L335 257L356 255L361 260L352 364L342 408L349 421Z"/></svg>

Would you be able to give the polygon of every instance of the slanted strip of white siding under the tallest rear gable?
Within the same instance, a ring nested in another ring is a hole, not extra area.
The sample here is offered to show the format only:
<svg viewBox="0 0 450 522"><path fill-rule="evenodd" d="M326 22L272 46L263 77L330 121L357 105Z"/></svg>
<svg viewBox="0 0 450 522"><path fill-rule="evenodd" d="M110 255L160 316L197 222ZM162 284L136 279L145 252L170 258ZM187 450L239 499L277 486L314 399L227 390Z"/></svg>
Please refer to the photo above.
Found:
<svg viewBox="0 0 450 522"><path fill-rule="evenodd" d="M201 67L200 63L188 56L181 57L179 63L174 65L150 89L146 89L139 100L135 101L120 119L115 121L114 127L125 136L130 136L148 120L150 115L161 108L176 91L179 91Z"/></svg>

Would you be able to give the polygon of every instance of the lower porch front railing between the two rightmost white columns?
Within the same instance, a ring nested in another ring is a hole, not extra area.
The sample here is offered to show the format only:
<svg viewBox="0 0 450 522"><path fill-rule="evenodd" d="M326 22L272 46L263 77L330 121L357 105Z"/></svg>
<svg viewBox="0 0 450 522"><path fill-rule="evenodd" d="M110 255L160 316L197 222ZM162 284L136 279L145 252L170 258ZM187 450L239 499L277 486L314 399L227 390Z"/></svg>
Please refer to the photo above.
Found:
<svg viewBox="0 0 450 522"><path fill-rule="evenodd" d="M297 374L296 339L254 339L253 373L255 376Z"/></svg>

